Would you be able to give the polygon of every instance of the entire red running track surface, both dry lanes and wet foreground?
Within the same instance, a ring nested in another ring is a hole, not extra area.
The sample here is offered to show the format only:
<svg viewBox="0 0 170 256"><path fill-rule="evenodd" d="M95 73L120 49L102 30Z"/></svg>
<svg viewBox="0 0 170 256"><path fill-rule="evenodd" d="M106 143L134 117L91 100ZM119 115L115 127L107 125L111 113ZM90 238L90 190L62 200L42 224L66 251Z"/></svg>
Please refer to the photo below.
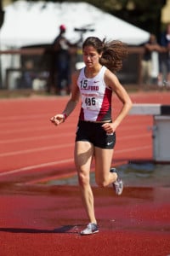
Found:
<svg viewBox="0 0 170 256"><path fill-rule="evenodd" d="M132 94L133 102L170 104L169 92ZM116 197L94 186L99 234L79 236L86 216L77 186L47 185L75 174L79 106L65 124L49 122L68 97L1 100L0 256L170 255L169 186L134 184ZM121 105L113 98L114 114ZM150 116L128 116L117 130L112 165L152 160ZM93 169L93 168L92 168Z"/></svg>

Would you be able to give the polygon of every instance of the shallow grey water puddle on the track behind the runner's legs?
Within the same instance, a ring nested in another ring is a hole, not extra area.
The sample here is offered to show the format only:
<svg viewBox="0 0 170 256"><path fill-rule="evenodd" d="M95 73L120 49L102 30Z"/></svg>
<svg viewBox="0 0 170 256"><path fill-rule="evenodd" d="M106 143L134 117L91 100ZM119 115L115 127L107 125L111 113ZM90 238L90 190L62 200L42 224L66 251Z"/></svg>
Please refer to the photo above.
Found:
<svg viewBox="0 0 170 256"><path fill-rule="evenodd" d="M127 187L170 187L170 165L133 162L118 166L116 169ZM90 173L90 179L91 184L95 186L94 172ZM49 184L77 185L77 175L58 180L50 180L48 181Z"/></svg>

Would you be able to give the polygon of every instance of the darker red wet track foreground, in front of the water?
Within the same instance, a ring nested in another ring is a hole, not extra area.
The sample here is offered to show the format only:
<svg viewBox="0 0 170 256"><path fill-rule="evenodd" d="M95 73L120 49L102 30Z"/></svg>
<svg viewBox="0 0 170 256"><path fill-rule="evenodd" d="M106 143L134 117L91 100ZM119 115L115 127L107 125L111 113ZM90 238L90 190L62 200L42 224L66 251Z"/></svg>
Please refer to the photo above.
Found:
<svg viewBox="0 0 170 256"><path fill-rule="evenodd" d="M1 256L170 254L169 188L94 188L99 233L80 236L86 216L77 187L1 189Z"/></svg>

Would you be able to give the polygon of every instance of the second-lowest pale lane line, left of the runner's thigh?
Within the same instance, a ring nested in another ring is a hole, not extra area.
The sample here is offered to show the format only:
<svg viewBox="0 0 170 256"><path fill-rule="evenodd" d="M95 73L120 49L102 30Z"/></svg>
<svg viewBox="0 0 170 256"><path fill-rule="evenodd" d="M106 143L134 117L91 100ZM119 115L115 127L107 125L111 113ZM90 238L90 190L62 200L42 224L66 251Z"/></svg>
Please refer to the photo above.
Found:
<svg viewBox="0 0 170 256"><path fill-rule="evenodd" d="M11 156L11 155L15 155L15 154L28 154L28 153L39 152L39 151L47 151L47 150L51 150L54 148L68 148L68 147L73 147L73 146L74 146L74 143L68 143L68 144L62 144L62 145L56 145L56 146L50 146L50 147L31 148L31 149L26 149L26 150L18 150L18 151L13 151L13 152L2 153L2 154L0 154L0 157Z"/></svg>

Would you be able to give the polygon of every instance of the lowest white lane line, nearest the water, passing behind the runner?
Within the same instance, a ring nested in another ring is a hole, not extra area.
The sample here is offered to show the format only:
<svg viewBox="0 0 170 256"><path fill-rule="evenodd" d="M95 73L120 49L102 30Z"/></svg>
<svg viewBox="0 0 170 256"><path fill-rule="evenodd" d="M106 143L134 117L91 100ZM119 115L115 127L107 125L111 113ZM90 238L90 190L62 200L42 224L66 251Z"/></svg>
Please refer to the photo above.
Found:
<svg viewBox="0 0 170 256"><path fill-rule="evenodd" d="M139 150L144 150L146 148L151 148L151 147L145 146L145 147L138 147L138 148L121 149L121 150L116 150L116 154L122 154L123 152L139 151ZM114 157L113 157L113 159L114 159ZM26 167L23 167L20 169L15 169L15 170L7 171L7 172L0 172L0 177L18 173L18 172L26 172L26 171L36 170L41 167L57 166L59 164L65 164L65 163L70 163L70 162L74 162L74 159L71 158L71 159L67 159L67 160L58 160L58 161L48 162L45 164L39 164L39 165L35 165L35 166L26 166Z"/></svg>

